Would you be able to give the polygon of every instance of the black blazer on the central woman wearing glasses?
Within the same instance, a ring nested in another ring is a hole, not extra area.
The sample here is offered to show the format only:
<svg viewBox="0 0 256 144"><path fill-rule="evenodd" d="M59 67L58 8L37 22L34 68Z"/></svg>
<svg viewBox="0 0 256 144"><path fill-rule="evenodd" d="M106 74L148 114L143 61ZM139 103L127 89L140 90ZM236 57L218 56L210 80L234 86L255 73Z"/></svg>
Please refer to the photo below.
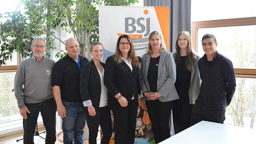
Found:
<svg viewBox="0 0 256 144"><path fill-rule="evenodd" d="M118 93L122 94L128 102L131 101L132 96L137 99L138 94L141 93L139 68L132 65L131 71L124 61L117 64L114 61L114 55L110 56L106 60L104 84L108 89L109 100L116 100L114 96Z"/></svg>

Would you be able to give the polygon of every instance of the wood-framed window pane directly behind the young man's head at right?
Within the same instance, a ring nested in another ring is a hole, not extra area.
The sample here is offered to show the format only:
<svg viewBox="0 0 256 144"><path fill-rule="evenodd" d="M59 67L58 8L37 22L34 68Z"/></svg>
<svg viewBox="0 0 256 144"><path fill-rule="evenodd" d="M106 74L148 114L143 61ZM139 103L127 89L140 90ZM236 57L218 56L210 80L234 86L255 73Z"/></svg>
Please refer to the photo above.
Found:
<svg viewBox="0 0 256 144"><path fill-rule="evenodd" d="M192 46L202 56L202 35L212 32L218 42L217 50L230 58L237 77L256 76L255 28L256 17L192 22Z"/></svg>

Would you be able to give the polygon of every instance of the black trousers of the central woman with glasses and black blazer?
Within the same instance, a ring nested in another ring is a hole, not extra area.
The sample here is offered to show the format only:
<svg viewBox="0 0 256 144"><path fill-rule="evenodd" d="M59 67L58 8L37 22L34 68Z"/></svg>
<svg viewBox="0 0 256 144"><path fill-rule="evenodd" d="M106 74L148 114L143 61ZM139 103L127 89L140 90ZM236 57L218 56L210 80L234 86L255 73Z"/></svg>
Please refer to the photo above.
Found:
<svg viewBox="0 0 256 144"><path fill-rule="evenodd" d="M114 116L115 144L133 144L138 100L131 100L126 107L121 107L115 99L109 103Z"/></svg>

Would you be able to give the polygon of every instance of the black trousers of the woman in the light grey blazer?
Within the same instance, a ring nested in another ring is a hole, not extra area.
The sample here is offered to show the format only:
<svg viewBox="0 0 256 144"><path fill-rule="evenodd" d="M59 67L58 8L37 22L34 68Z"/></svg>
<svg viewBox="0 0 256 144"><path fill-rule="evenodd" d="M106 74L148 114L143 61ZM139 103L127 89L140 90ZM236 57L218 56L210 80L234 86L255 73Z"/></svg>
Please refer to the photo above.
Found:
<svg viewBox="0 0 256 144"><path fill-rule="evenodd" d="M146 100L146 106L152 123L155 142L160 143L171 137L169 122L173 101Z"/></svg>

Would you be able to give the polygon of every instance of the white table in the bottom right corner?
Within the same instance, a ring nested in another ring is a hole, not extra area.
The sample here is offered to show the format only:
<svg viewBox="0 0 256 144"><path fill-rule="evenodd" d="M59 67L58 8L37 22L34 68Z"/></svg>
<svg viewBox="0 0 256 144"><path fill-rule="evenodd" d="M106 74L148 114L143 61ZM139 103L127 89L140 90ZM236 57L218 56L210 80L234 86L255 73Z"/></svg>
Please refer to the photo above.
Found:
<svg viewBox="0 0 256 144"><path fill-rule="evenodd" d="M159 144L256 144L256 130L201 121Z"/></svg>

